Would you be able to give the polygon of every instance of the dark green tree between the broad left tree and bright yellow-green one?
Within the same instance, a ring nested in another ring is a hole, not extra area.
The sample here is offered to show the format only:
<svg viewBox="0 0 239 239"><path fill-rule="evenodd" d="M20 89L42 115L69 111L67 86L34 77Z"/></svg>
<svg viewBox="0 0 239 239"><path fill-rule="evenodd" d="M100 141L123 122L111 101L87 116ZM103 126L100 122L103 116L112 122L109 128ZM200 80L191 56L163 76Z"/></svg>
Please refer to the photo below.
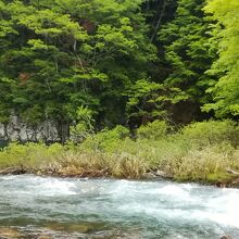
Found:
<svg viewBox="0 0 239 239"><path fill-rule="evenodd" d="M167 73L166 77L159 76L169 90L167 110L183 123L200 116L200 105L209 101L204 91L213 81L204 74L215 59L209 51L210 22L204 18L204 4L205 0L179 0L175 17L158 34L163 52L161 68Z"/></svg>

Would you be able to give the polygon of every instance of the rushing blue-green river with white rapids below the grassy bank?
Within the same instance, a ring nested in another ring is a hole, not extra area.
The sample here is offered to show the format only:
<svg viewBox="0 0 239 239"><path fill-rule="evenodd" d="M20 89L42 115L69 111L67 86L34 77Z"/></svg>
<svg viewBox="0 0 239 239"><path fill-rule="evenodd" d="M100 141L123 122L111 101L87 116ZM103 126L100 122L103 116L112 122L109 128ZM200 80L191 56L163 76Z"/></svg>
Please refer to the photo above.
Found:
<svg viewBox="0 0 239 239"><path fill-rule="evenodd" d="M0 176L0 238L239 238L239 190Z"/></svg>

